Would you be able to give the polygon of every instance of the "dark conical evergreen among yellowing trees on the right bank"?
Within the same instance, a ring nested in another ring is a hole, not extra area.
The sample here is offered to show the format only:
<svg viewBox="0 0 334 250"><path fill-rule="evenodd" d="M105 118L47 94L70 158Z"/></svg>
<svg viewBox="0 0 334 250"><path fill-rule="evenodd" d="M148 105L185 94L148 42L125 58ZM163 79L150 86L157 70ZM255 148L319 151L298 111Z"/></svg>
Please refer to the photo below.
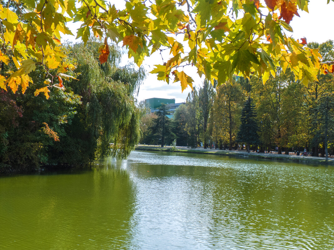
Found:
<svg viewBox="0 0 334 250"><path fill-rule="evenodd" d="M255 105L252 104L252 98L250 97L248 97L242 109L240 121L237 139L239 142L247 143L247 152L249 152L250 144L259 143L259 127L256 120Z"/></svg>

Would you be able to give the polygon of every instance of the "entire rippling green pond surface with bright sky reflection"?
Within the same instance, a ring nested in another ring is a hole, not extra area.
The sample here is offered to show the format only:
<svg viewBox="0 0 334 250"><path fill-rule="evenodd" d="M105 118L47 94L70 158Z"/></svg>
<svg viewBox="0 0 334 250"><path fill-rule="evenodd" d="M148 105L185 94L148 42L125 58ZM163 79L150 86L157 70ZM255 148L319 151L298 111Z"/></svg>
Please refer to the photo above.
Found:
<svg viewBox="0 0 334 250"><path fill-rule="evenodd" d="M134 151L0 177L0 249L334 248L334 168Z"/></svg>

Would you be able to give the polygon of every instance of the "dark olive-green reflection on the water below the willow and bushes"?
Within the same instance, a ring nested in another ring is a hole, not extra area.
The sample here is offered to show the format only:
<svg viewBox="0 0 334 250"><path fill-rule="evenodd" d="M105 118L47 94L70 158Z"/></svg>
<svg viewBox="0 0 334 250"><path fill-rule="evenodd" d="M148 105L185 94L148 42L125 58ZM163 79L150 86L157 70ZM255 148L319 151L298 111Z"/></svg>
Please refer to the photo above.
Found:
<svg viewBox="0 0 334 250"><path fill-rule="evenodd" d="M0 249L129 249L126 170L0 178Z"/></svg>

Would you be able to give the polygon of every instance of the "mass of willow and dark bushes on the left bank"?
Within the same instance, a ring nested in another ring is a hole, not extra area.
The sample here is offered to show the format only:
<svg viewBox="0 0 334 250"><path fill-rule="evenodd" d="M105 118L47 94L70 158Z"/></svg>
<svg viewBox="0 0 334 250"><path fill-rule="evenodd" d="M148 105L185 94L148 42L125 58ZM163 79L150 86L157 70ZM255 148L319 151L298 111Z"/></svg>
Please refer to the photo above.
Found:
<svg viewBox="0 0 334 250"><path fill-rule="evenodd" d="M140 137L141 110L134 95L145 76L133 66L118 67L121 52L111 47L103 65L99 43L62 48L77 80L62 74L63 84L49 98L1 92L0 171L31 171L41 165L86 164L104 156L126 158ZM13 65L6 66L10 70ZM52 73L52 72L51 72ZM31 73L32 87L45 86L45 69ZM20 86L19 86L20 88Z"/></svg>

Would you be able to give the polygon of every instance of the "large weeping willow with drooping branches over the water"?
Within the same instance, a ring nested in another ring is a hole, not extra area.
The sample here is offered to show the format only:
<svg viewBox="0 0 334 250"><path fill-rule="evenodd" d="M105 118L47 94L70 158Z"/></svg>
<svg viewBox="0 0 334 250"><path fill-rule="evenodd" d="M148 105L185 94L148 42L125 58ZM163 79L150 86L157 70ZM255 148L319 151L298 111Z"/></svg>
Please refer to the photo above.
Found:
<svg viewBox="0 0 334 250"><path fill-rule="evenodd" d="M102 65L100 44L94 40L69 45L69 57L76 68L77 80L64 83L82 96L76 119L68 128L69 138L59 147L60 153L77 156L76 161L92 162L100 157L126 158L140 137L141 110L134 95L145 72L132 65L119 67L121 52L117 47Z"/></svg>

